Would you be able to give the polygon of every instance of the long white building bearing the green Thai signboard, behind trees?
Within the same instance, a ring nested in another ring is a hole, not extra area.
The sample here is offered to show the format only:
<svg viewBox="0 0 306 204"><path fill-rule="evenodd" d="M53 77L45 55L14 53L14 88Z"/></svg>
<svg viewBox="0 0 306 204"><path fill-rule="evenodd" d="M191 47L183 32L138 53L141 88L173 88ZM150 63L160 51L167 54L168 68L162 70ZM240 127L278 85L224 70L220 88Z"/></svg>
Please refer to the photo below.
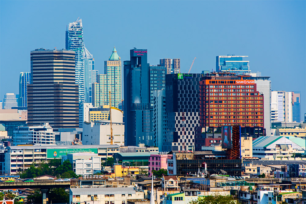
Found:
<svg viewBox="0 0 306 204"><path fill-rule="evenodd" d="M5 148L5 172L17 174L28 169L33 162L47 162L50 159L61 159L69 153L98 154L101 161L119 152L118 145L28 145L9 146Z"/></svg>

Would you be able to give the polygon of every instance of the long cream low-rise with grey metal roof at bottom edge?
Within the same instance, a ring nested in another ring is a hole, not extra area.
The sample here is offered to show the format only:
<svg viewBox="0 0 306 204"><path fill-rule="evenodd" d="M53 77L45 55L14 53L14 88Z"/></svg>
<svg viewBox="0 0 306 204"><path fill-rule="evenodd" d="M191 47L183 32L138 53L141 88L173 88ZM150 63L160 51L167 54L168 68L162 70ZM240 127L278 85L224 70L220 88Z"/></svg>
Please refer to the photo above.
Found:
<svg viewBox="0 0 306 204"><path fill-rule="evenodd" d="M70 188L70 204L127 204L128 199L143 199L144 193L132 187Z"/></svg>

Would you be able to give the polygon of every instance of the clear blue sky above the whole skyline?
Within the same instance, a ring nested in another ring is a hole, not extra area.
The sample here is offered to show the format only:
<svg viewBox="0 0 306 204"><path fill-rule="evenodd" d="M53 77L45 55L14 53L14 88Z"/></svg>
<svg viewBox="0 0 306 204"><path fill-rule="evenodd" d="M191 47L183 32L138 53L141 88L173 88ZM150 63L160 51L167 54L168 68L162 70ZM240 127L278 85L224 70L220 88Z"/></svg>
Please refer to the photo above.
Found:
<svg viewBox="0 0 306 204"><path fill-rule="evenodd" d="M18 94L30 51L65 48L65 30L78 17L84 43L103 73L116 46L133 47L148 62L181 58L181 72L215 70L216 56L248 55L250 69L271 76L272 90L301 91L305 110L305 1L0 1L0 98ZM122 67L123 72L123 67Z"/></svg>

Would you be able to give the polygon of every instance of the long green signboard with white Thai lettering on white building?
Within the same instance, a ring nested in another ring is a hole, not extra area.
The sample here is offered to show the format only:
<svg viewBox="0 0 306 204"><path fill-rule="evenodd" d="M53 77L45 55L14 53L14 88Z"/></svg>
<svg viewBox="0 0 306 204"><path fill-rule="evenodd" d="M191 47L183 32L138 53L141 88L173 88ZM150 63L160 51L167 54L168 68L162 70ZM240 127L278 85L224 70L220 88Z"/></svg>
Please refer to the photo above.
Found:
<svg viewBox="0 0 306 204"><path fill-rule="evenodd" d="M79 152L93 152L98 154L98 148L67 148L67 149L47 149L47 158L62 158L62 155Z"/></svg>

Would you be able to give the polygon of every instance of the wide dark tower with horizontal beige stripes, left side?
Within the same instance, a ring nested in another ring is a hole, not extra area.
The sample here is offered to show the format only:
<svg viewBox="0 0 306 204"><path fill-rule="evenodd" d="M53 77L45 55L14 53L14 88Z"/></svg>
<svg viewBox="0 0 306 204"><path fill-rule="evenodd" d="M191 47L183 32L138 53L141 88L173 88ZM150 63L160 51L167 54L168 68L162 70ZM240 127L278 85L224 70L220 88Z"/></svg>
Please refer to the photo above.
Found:
<svg viewBox="0 0 306 204"><path fill-rule="evenodd" d="M75 52L31 51L28 84L28 125L49 123L52 128L79 127L79 92L75 83Z"/></svg>

